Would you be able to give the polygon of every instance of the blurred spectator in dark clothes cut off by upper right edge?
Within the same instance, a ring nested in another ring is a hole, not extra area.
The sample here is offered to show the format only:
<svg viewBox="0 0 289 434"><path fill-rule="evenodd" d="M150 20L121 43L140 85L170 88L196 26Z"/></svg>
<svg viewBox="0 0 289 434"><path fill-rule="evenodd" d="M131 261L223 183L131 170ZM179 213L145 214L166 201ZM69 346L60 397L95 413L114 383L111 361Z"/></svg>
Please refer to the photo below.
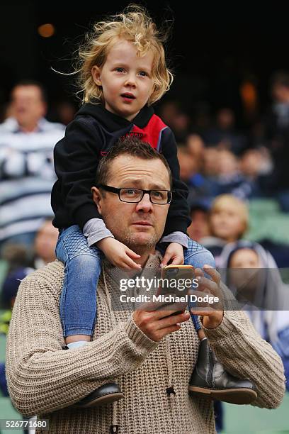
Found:
<svg viewBox="0 0 289 434"><path fill-rule="evenodd" d="M289 211L289 73L276 72L271 79L273 105L264 120L264 140L271 151L274 172L271 189L283 211Z"/></svg>

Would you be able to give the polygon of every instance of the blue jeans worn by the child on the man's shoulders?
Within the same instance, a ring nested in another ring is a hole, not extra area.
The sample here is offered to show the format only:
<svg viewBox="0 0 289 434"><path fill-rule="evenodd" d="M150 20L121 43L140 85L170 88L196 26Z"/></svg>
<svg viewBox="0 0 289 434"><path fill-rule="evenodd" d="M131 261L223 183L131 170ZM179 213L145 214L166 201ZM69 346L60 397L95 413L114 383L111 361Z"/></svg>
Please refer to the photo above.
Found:
<svg viewBox="0 0 289 434"><path fill-rule="evenodd" d="M60 318L64 337L89 335L94 332L97 316L96 289L101 274L101 251L87 245L86 237L79 226L70 226L61 231L56 245L57 259L64 263L64 282L60 297ZM196 241L188 240L185 249L185 264L203 268L215 267L212 254ZM189 304L189 308L193 305ZM201 326L198 316L191 314L198 331Z"/></svg>

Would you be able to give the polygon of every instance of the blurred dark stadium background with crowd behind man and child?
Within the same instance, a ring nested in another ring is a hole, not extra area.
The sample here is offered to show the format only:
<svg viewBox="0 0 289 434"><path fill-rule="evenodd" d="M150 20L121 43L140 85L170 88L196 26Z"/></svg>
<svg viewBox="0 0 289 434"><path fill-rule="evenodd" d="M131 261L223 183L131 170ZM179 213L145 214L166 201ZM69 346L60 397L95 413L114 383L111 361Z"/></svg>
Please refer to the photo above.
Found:
<svg viewBox="0 0 289 434"><path fill-rule="evenodd" d="M18 284L33 269L54 260L52 152L80 106L75 76L66 74L73 71L79 43L94 21L127 4L106 1L90 9L87 2L79 10L62 2L63 10L45 11L36 1L10 2L0 16L0 418L21 417L8 398L4 367ZM199 11L181 1L141 4L157 25L167 27L174 21L166 55L175 79L154 108L176 136L181 179L190 191L189 235L212 251L218 267L229 267L228 249L244 249L241 240L250 243L246 250L261 246L285 287L289 282L289 42L288 26L281 18L285 10L272 8L267 20L249 13L244 18L232 13L234 19L228 20L222 11L215 16L205 6ZM246 261L239 265L243 266ZM282 327L278 335L282 345L271 344L279 348L289 372L289 338L284 333L289 324L283 322ZM270 342L269 335L263 338ZM228 404L218 410L219 428L224 433L289 432L288 405L288 394L275 411Z"/></svg>

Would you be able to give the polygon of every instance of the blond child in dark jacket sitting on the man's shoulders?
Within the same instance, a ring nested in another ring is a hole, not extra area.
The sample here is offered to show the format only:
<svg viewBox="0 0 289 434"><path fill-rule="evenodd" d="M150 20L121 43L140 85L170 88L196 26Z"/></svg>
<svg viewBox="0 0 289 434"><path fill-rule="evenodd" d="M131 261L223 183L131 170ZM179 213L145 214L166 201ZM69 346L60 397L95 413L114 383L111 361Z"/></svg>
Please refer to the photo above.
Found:
<svg viewBox="0 0 289 434"><path fill-rule="evenodd" d="M186 235L189 223L187 189L179 180L176 142L170 128L154 115L152 104L169 89L162 38L139 6L94 26L89 43L80 51L79 68L84 105L55 147L58 180L52 189L54 225L60 230L57 258L64 262L60 316L67 347L91 340L96 321L96 287L101 252L122 269L140 269L139 255L113 238L92 200L91 187L98 162L115 143L137 136L162 152L173 177L174 199L164 230L167 243L162 265L196 265L197 243ZM205 263L215 266L209 252ZM200 330L198 316L192 316ZM81 400L81 406L108 403L123 397L117 384L105 384Z"/></svg>

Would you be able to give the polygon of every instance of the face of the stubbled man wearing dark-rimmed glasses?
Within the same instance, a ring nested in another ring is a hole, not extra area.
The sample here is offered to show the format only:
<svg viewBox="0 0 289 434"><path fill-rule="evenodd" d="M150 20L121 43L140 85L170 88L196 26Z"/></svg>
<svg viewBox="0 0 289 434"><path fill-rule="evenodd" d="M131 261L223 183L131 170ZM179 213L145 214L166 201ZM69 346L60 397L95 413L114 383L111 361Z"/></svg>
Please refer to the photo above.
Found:
<svg viewBox="0 0 289 434"><path fill-rule="evenodd" d="M111 187L170 190L169 172L159 159L120 155L113 160L107 184ZM93 187L94 201L106 227L115 238L135 252L154 252L162 236L168 205L152 204L145 194L138 204L120 201L118 194Z"/></svg>

